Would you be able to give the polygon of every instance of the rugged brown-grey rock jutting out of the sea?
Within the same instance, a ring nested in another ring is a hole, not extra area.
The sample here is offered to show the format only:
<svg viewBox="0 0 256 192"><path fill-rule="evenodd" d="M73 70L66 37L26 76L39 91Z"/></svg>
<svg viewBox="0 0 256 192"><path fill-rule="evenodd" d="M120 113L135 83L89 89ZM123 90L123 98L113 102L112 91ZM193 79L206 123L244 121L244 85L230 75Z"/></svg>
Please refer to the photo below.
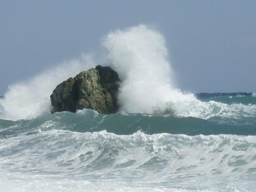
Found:
<svg viewBox="0 0 256 192"><path fill-rule="evenodd" d="M120 83L118 74L110 67L97 66L82 71L54 89L50 96L52 112L87 108L102 114L116 113Z"/></svg>

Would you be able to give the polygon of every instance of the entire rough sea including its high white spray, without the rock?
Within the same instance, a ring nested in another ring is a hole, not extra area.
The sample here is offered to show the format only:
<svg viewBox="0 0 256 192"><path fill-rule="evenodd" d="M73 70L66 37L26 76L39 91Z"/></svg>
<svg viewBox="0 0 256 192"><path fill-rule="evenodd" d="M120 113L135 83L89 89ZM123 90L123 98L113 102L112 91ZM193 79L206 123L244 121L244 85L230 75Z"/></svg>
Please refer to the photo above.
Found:
<svg viewBox="0 0 256 192"><path fill-rule="evenodd" d="M164 36L114 30L83 54L9 86L0 98L3 191L256 191L256 94L187 93ZM51 114L54 88L110 66L121 109Z"/></svg>

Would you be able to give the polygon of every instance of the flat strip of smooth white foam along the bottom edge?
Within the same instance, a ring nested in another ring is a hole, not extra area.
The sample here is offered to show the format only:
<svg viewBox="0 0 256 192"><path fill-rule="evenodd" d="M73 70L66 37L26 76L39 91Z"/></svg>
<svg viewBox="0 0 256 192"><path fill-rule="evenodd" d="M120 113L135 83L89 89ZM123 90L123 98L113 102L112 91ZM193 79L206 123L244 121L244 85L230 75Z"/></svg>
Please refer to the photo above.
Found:
<svg viewBox="0 0 256 192"><path fill-rule="evenodd" d="M141 191L154 191L154 192L252 192L241 187L231 187L227 185L224 188L209 187L209 189L183 189L164 186L150 186L149 184L130 183L130 182L115 182L109 180L90 182L86 180L74 180L73 178L55 179L49 177L37 176L33 177L26 174L8 174L0 175L0 187L3 191L11 192L141 192Z"/></svg>

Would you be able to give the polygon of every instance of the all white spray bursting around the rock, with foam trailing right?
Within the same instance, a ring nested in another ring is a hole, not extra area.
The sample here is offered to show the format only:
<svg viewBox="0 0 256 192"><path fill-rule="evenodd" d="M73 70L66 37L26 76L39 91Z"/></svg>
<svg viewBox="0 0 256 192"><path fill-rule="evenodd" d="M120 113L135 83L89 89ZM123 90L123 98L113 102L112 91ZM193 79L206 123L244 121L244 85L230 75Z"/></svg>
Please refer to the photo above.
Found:
<svg viewBox="0 0 256 192"><path fill-rule="evenodd" d="M146 25L113 31L106 35L102 45L107 55L102 53L95 58L87 54L45 70L29 81L11 85L4 99L0 100L3 110L0 118L27 119L49 113L50 95L58 84L102 63L110 65L122 79L118 98L120 110L127 113L173 113L209 119L237 115L240 108L250 115L255 108L216 101L202 102L194 94L181 92L175 86L164 37Z"/></svg>

